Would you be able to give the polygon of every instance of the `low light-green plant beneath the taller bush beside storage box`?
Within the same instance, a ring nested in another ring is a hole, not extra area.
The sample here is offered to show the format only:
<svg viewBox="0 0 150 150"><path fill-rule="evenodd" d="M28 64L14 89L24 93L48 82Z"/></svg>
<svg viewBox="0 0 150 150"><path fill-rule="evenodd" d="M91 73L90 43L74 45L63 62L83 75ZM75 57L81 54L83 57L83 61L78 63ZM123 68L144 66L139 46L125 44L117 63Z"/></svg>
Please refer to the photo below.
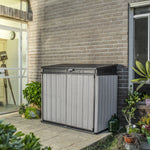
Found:
<svg viewBox="0 0 150 150"><path fill-rule="evenodd" d="M26 111L25 111L25 118L26 119L38 119L40 118L40 114L38 114L39 110L37 110L36 108L34 107L28 107L26 108Z"/></svg>

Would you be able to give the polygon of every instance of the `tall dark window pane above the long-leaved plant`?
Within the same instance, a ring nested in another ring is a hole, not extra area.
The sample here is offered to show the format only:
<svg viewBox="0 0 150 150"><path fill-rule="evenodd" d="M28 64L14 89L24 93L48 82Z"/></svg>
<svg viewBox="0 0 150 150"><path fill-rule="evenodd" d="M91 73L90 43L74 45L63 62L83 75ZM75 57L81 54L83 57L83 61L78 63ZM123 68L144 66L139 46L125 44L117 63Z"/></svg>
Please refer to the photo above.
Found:
<svg viewBox="0 0 150 150"><path fill-rule="evenodd" d="M135 20L135 60L143 64L148 59L148 18Z"/></svg>

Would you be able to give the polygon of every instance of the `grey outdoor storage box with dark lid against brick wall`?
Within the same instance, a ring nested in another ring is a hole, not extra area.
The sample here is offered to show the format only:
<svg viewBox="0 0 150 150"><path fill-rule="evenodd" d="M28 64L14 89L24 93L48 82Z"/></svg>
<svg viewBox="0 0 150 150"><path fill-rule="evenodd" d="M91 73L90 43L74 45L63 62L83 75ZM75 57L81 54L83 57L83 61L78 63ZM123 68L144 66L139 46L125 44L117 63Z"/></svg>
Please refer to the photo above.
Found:
<svg viewBox="0 0 150 150"><path fill-rule="evenodd" d="M94 133L117 111L117 65L42 67L42 120Z"/></svg>

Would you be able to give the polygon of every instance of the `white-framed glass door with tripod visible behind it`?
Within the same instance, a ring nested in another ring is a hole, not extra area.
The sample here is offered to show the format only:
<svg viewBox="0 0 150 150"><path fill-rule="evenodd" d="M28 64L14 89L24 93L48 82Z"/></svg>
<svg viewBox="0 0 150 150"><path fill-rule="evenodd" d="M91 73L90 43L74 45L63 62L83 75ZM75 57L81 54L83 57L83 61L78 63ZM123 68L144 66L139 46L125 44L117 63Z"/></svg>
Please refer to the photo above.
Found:
<svg viewBox="0 0 150 150"><path fill-rule="evenodd" d="M25 103L22 90L27 83L27 26L17 25L0 25L0 114L16 111Z"/></svg>

